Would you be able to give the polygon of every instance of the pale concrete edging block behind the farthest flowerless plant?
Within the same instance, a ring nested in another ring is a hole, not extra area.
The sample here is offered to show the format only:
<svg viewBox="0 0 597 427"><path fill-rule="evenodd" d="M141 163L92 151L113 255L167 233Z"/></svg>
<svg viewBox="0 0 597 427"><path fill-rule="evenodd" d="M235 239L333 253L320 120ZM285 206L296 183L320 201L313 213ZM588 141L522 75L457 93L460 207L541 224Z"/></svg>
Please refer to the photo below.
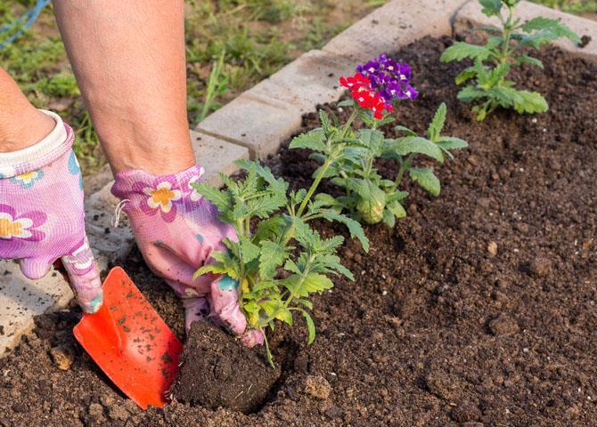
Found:
<svg viewBox="0 0 597 427"><path fill-rule="evenodd" d="M527 1L522 1L516 6L515 16L523 21L531 20L537 16L551 19L559 18L578 36L589 36L591 40L585 47L579 47L564 38L556 40L554 44L587 60L597 61L597 22ZM454 31L456 32L479 27L499 27L500 25L497 18L488 18L481 12L481 6L476 0L464 4L462 9L454 16Z"/></svg>

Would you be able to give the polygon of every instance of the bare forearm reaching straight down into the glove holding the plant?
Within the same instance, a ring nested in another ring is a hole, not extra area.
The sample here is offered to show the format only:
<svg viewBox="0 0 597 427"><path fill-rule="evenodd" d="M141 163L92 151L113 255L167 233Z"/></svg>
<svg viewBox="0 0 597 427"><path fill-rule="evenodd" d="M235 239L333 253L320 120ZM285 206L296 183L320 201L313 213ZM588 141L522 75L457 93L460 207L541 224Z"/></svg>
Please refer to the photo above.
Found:
<svg viewBox="0 0 597 427"><path fill-rule="evenodd" d="M182 0L55 0L70 62L115 172L194 163Z"/></svg>

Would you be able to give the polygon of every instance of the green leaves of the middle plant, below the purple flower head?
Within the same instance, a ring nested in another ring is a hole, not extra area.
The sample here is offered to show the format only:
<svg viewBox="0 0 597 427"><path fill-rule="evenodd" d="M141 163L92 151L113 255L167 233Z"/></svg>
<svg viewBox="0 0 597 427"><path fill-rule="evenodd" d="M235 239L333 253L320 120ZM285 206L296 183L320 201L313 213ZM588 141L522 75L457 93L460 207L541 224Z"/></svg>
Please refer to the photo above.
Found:
<svg viewBox="0 0 597 427"><path fill-rule="evenodd" d="M342 105L350 105L352 101ZM459 138L443 136L441 131L446 123L446 104L442 103L433 117L427 132L427 138L419 136L405 126L397 126L397 131L405 133L404 137L386 139L377 127L391 121L391 117L380 120L367 116L359 111L365 125L356 133L356 139L362 145L349 150L348 156L333 171L331 182L345 190L344 196L332 197L329 194L318 194L317 200L326 205L347 210L357 221L374 224L385 222L394 227L397 219L404 218L406 211L402 201L408 196L401 191L400 185L407 173L423 189L433 196L438 196L440 183L438 177L429 167L414 167L413 160L418 154L444 163L445 156L452 158L452 149L467 147L466 141ZM315 149L315 148L314 148ZM315 158L322 158L318 155ZM384 179L374 166L380 157L392 158L398 162L399 169L394 180Z"/></svg>

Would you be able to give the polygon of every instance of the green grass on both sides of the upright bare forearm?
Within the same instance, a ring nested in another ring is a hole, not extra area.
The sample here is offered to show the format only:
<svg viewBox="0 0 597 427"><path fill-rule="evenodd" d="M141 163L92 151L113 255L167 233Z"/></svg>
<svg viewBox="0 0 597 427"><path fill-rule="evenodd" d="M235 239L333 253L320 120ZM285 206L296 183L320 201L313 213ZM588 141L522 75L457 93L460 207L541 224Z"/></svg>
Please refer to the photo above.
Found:
<svg viewBox="0 0 597 427"><path fill-rule="evenodd" d="M219 109L302 52L320 48L387 0L187 0L189 125ZM0 0L0 25L34 0ZM2 38L0 37L0 40ZM56 110L78 132L75 151L86 173L102 166L97 134L72 75L51 7L4 51L0 66L38 108Z"/></svg>

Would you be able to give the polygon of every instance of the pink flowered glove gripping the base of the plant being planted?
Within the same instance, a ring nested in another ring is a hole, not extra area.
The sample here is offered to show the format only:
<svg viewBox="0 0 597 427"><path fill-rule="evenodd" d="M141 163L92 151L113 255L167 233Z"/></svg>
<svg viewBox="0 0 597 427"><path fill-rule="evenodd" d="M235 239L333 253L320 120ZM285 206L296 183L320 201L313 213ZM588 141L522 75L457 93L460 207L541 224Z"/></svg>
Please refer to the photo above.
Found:
<svg viewBox="0 0 597 427"><path fill-rule="evenodd" d="M160 177L142 170L120 172L112 193L124 204L145 262L182 298L187 330L193 321L210 318L253 346L262 343L263 336L245 332L238 282L211 274L192 279L211 261L212 251L227 250L223 238L236 239L233 228L218 219L217 207L192 189L190 183L202 173L198 165Z"/></svg>

